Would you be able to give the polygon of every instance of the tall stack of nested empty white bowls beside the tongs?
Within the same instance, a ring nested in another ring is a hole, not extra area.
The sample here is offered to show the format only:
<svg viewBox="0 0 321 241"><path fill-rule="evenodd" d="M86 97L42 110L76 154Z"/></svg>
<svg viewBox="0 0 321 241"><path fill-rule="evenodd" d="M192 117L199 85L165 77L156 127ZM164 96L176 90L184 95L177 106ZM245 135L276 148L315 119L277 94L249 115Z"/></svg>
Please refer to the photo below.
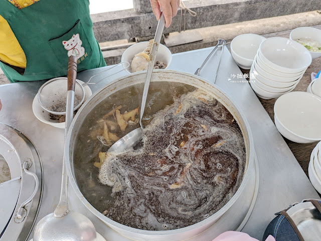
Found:
<svg viewBox="0 0 321 241"><path fill-rule="evenodd" d="M250 84L264 99L292 91L311 64L309 51L300 43L284 37L265 39L250 70Z"/></svg>

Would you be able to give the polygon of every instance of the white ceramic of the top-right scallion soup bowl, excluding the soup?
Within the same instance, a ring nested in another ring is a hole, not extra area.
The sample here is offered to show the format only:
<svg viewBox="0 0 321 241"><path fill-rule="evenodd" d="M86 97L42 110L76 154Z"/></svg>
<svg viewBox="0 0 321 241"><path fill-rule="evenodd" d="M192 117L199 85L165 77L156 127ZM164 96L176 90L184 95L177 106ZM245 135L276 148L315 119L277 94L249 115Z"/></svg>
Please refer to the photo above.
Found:
<svg viewBox="0 0 321 241"><path fill-rule="evenodd" d="M290 39L296 41L301 37L308 37L314 41L321 44L321 30L315 27L297 27L293 29L290 33ZM321 52L309 51L312 58L317 58L321 56Z"/></svg>

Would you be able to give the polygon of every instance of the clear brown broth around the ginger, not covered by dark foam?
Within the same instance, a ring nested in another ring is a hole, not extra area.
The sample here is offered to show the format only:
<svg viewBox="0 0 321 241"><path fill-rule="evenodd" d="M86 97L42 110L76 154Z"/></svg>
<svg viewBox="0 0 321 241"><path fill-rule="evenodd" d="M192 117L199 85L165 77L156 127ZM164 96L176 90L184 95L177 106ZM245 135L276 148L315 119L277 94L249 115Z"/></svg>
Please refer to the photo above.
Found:
<svg viewBox="0 0 321 241"><path fill-rule="evenodd" d="M148 118L152 114L172 104L173 96L179 97L194 89L191 85L181 83L151 82L144 113L147 120L143 123L148 124ZM113 107L121 104L123 109L131 110L139 106L142 90L143 84L134 84L111 94L90 111L79 128L73 153L75 179L84 197L100 212L113 203L114 197L111 196L112 188L99 182L99 169L93 165L95 161L99 161L98 153L107 151L108 146L103 145L97 136L92 136L91 132L97 128L97 120ZM128 125L125 131L115 133L121 137L138 126Z"/></svg>

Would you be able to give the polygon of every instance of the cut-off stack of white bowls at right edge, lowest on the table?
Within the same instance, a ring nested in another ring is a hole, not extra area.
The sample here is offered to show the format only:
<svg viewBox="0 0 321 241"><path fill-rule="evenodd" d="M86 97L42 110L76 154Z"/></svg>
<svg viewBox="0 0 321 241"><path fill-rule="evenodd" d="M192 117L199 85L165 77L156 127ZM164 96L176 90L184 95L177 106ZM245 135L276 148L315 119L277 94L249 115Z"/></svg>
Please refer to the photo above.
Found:
<svg viewBox="0 0 321 241"><path fill-rule="evenodd" d="M317 143L311 153L308 173L315 190L321 193L321 141Z"/></svg>

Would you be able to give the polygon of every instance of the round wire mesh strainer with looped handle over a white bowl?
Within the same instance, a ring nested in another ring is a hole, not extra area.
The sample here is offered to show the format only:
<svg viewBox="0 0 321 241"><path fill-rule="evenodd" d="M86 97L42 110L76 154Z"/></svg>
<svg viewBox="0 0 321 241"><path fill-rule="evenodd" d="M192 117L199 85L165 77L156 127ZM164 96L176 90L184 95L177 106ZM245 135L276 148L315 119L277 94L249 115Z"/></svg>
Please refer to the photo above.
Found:
<svg viewBox="0 0 321 241"><path fill-rule="evenodd" d="M108 76L100 79L97 82L90 83L91 79L105 71L108 71L118 65L122 65L123 68L117 72L114 72L112 74L109 74ZM74 110L78 109L80 105L83 103L85 99L85 90L84 86L88 84L96 84L100 81L119 73L120 71L124 70L125 68L129 67L129 62L123 61L120 62L110 68L107 68L100 73L97 73L89 78L89 80L86 83L79 83L76 80L75 85L75 100L74 100ZM46 83L44 83L39 91L38 91L38 100L40 105L48 112L53 114L66 114L66 103L67 103L67 78L66 77L58 77L53 78Z"/></svg>

